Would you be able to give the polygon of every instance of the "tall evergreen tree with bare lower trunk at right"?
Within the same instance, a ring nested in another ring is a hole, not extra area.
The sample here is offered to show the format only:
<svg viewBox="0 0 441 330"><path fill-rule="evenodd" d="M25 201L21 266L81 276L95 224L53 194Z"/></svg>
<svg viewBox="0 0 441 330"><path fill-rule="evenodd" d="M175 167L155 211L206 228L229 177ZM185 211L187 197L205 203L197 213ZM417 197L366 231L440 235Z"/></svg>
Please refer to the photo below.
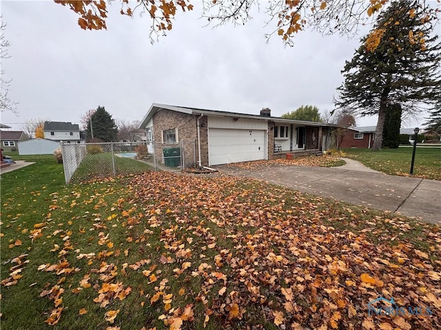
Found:
<svg viewBox="0 0 441 330"><path fill-rule="evenodd" d="M441 97L441 43L431 35L433 22L415 1L393 1L342 71L338 108L356 115L378 115L373 150L382 147L387 113L433 108Z"/></svg>

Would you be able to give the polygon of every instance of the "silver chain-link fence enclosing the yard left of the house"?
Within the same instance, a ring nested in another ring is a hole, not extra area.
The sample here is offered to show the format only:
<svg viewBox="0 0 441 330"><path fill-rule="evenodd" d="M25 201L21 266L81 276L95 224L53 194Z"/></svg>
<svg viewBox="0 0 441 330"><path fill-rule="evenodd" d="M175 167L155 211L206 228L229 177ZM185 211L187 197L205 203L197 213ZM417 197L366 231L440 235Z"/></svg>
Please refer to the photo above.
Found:
<svg viewBox="0 0 441 330"><path fill-rule="evenodd" d="M194 167L196 141L61 143L65 182L78 183L99 177L143 173L154 168Z"/></svg>

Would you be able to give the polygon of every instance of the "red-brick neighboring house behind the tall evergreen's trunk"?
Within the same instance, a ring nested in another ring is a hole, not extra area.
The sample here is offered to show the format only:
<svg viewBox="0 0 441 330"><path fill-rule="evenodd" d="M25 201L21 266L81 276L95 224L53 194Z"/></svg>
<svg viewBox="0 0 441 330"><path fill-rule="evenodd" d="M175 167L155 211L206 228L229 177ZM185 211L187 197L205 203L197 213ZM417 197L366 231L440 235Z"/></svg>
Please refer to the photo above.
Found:
<svg viewBox="0 0 441 330"><path fill-rule="evenodd" d="M376 126L349 126L342 137L339 148L372 148L375 140ZM400 129L400 134L413 138L413 129Z"/></svg>

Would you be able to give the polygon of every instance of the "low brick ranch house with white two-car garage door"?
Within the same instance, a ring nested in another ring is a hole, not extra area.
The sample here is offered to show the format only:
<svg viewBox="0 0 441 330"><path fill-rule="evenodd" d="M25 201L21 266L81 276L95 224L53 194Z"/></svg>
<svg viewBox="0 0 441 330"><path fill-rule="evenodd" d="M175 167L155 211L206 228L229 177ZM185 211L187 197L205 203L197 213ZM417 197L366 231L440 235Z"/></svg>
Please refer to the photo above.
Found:
<svg viewBox="0 0 441 330"><path fill-rule="evenodd" d="M319 153L335 125L271 117L270 109L250 115L154 103L139 127L147 144L190 141L183 152L199 166L213 166Z"/></svg>

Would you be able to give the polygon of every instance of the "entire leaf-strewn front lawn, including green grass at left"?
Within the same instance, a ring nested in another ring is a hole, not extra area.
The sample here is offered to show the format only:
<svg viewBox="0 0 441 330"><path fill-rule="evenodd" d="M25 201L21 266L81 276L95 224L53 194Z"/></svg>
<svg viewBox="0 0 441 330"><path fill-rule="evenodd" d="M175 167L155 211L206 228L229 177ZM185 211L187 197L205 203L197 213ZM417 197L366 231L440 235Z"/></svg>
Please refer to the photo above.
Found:
<svg viewBox="0 0 441 330"><path fill-rule="evenodd" d="M1 175L2 329L439 328L439 226L220 175L63 186L55 166ZM380 296L431 315L368 316Z"/></svg>

